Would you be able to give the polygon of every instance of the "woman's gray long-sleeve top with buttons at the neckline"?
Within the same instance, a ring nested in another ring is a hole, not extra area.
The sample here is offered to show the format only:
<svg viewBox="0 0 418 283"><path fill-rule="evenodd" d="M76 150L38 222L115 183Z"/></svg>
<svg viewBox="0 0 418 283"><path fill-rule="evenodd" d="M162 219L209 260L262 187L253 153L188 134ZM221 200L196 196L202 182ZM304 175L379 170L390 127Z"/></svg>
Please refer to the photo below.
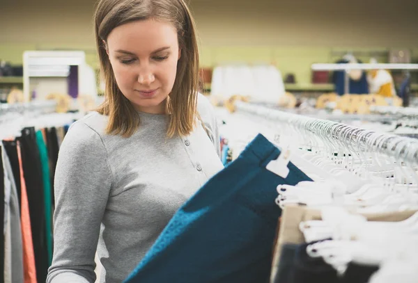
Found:
<svg viewBox="0 0 418 283"><path fill-rule="evenodd" d="M223 166L213 108L199 95L199 125L167 138L167 116L139 113L130 138L105 134L107 117L72 125L56 165L54 258L47 283L120 283L134 270L177 209ZM209 136L209 137L208 137Z"/></svg>

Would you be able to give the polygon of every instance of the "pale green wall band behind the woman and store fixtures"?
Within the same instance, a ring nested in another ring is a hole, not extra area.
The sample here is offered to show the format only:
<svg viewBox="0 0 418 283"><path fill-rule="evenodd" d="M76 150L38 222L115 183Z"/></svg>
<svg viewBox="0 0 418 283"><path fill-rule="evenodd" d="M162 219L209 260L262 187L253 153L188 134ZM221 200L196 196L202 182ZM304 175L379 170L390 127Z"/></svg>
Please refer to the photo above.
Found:
<svg viewBox="0 0 418 283"><path fill-rule="evenodd" d="M55 47L57 48L57 47ZM65 46L58 47L65 49ZM25 50L45 50L36 45L0 45L0 58L9 60L13 64L22 64L22 54ZM51 47L51 49L54 49ZM71 49L77 49L72 47ZM78 47L86 51L86 61L94 68L98 67L98 58L91 47ZM332 63L339 59L333 56L333 51L347 49L332 49L330 47L201 47L201 66L215 67L227 63L270 63L276 65L283 75L293 73L298 83L310 83L313 63ZM351 51L387 51L385 48L350 48ZM359 56L364 62L369 61L369 56ZM376 57L380 63L387 62L386 56ZM418 48L412 49L412 58L418 61Z"/></svg>

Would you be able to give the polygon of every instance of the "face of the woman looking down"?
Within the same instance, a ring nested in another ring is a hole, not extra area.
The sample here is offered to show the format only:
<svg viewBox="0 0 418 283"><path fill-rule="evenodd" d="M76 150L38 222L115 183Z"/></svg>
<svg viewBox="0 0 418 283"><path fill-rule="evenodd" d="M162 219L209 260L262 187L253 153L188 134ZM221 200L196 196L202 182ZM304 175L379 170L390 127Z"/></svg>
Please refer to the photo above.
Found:
<svg viewBox="0 0 418 283"><path fill-rule="evenodd" d="M162 114L180 59L173 25L154 19L116 27L107 38L116 83L141 112Z"/></svg>

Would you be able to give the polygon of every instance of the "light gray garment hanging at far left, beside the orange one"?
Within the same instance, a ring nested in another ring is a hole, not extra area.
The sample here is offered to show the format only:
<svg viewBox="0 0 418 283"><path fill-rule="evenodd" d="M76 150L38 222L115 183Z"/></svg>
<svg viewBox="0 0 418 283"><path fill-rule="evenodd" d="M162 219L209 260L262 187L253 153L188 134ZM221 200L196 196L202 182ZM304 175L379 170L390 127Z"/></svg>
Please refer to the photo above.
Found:
<svg viewBox="0 0 418 283"><path fill-rule="evenodd" d="M17 204L17 191L13 171L4 147L1 147L5 184L10 186L10 199L8 200L6 239L5 239L5 281L6 275L10 282L23 282L23 250L22 231L20 229L20 208Z"/></svg>

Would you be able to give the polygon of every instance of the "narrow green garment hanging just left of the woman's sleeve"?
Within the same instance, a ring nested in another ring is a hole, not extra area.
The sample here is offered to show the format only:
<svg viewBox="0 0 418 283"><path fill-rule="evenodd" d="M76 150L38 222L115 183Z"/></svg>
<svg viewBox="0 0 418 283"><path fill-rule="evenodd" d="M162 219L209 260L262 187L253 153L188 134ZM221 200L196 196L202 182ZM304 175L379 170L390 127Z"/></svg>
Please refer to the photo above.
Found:
<svg viewBox="0 0 418 283"><path fill-rule="evenodd" d="M45 234L48 250L48 266L52 264L52 199L51 199L51 181L49 179L49 159L47 146L41 131L36 131L36 143L38 144L40 163L42 163L42 180L44 184L45 201Z"/></svg>

